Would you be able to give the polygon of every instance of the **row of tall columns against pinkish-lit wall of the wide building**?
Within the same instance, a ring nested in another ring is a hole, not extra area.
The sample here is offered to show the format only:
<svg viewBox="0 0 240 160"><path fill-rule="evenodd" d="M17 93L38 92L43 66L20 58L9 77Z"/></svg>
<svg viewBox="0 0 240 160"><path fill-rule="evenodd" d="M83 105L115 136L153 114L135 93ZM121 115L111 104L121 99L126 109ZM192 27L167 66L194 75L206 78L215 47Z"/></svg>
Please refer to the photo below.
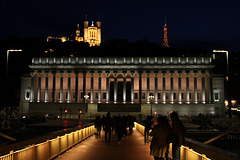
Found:
<svg viewBox="0 0 240 160"><path fill-rule="evenodd" d="M206 104L207 71L32 72L30 102Z"/></svg>

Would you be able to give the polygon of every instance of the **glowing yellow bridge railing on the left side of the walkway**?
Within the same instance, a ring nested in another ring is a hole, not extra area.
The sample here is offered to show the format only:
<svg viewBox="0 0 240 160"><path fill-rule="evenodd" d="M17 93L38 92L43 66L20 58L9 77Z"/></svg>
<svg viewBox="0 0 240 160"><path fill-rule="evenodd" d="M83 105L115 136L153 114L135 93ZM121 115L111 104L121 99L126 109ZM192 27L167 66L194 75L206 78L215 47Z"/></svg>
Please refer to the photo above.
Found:
<svg viewBox="0 0 240 160"><path fill-rule="evenodd" d="M0 160L49 160L65 152L95 132L94 125L66 133L65 135L33 144L0 157Z"/></svg>

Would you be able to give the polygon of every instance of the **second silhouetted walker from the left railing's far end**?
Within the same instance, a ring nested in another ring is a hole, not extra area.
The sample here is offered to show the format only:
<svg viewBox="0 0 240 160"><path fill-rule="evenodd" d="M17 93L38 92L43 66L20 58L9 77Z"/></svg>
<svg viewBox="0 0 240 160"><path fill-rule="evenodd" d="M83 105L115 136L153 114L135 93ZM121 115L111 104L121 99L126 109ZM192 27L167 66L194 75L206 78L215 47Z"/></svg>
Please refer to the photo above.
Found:
<svg viewBox="0 0 240 160"><path fill-rule="evenodd" d="M110 145L112 132L112 119L110 117L110 112L107 113L106 118L103 120L103 130L105 131L105 144Z"/></svg>

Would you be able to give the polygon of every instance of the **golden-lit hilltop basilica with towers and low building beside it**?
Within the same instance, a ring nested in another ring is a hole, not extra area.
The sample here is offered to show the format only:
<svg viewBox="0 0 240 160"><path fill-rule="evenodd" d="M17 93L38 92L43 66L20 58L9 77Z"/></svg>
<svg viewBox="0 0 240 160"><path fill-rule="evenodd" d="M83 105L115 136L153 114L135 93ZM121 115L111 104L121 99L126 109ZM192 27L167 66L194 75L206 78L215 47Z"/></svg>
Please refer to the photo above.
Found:
<svg viewBox="0 0 240 160"><path fill-rule="evenodd" d="M101 22L97 21L96 26L92 21L91 26L89 26L88 21L84 21L84 29L83 29L83 37L80 34L80 27L77 24L76 36L75 40L78 42L87 42L89 43L90 47L92 46L99 46L101 44ZM67 37L52 37L48 36L47 41L59 39L62 42L69 41Z"/></svg>

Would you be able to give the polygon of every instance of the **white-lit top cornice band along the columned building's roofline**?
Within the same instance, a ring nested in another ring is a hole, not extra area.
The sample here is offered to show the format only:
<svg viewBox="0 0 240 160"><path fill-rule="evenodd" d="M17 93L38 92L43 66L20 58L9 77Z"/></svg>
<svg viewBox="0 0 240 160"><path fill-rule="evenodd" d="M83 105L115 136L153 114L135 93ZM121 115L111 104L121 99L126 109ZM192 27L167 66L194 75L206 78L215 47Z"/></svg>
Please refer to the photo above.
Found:
<svg viewBox="0 0 240 160"><path fill-rule="evenodd" d="M30 68L40 67L187 67L211 66L211 57L45 57L32 58Z"/></svg>

